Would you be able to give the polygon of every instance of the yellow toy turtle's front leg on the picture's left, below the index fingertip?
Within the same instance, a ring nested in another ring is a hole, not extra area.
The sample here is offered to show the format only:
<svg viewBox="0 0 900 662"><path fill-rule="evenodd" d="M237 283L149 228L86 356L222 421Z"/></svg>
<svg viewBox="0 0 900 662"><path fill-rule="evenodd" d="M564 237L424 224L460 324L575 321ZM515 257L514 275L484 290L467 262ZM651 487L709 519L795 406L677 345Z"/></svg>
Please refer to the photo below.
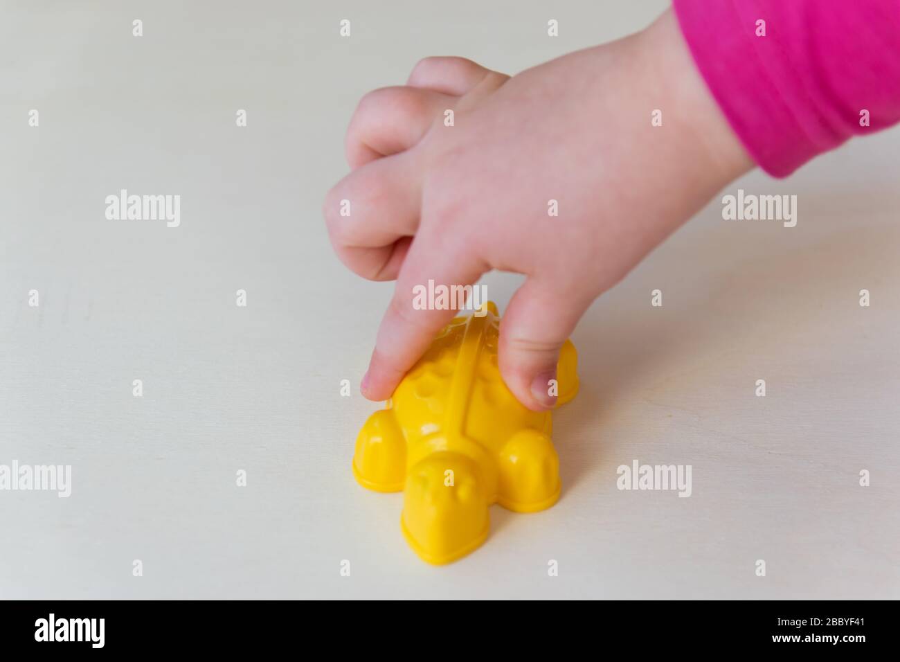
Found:
<svg viewBox="0 0 900 662"><path fill-rule="evenodd" d="M390 409L369 416L356 437L356 481L376 492L400 492L406 477L406 438Z"/></svg>

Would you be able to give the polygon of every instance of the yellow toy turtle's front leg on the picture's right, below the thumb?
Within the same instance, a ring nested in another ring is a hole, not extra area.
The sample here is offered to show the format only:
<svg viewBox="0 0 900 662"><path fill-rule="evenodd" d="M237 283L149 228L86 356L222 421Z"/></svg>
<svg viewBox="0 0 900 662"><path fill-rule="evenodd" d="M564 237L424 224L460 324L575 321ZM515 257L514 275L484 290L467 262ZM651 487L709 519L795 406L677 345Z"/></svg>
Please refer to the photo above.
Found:
<svg viewBox="0 0 900 662"><path fill-rule="evenodd" d="M498 458L500 505L516 512L549 508L560 495L559 458L554 443L536 430L518 431Z"/></svg>

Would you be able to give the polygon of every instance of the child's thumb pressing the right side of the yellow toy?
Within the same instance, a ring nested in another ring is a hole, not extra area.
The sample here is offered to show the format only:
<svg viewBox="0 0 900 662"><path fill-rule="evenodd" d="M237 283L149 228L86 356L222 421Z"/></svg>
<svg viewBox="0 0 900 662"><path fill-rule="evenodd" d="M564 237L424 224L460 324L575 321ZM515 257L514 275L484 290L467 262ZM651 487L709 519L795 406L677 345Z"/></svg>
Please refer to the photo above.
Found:
<svg viewBox="0 0 900 662"><path fill-rule="evenodd" d="M513 295L500 322L500 373L528 409L556 404L550 382L556 379L560 349L590 302L563 301L558 287L535 278Z"/></svg>

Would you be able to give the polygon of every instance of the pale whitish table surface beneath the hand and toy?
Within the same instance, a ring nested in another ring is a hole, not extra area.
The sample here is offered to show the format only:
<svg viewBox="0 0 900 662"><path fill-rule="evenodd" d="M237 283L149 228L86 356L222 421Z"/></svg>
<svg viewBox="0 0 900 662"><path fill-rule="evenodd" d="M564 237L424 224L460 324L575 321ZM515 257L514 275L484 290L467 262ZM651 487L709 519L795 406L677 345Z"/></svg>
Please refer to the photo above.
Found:
<svg viewBox="0 0 900 662"><path fill-rule="evenodd" d="M401 495L350 471L392 289L320 215L350 113L426 55L516 72L665 3L222 5L4 3L0 464L73 485L0 492L0 597L900 597L900 131L745 177L798 195L797 227L714 201L601 297L554 419L562 499L494 506L482 549L429 567ZM107 221L121 188L181 195L180 227ZM520 281L484 282L502 309ZM693 494L617 490L634 459L691 465Z"/></svg>

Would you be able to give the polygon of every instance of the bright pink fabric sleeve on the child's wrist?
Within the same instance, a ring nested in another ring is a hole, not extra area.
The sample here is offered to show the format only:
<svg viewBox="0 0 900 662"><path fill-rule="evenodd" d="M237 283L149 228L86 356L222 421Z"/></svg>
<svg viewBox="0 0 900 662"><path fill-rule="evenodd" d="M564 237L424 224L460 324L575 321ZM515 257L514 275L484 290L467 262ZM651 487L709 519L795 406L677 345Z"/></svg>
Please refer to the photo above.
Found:
<svg viewBox="0 0 900 662"><path fill-rule="evenodd" d="M786 177L854 135L900 122L900 0L674 7L716 101L770 175Z"/></svg>

